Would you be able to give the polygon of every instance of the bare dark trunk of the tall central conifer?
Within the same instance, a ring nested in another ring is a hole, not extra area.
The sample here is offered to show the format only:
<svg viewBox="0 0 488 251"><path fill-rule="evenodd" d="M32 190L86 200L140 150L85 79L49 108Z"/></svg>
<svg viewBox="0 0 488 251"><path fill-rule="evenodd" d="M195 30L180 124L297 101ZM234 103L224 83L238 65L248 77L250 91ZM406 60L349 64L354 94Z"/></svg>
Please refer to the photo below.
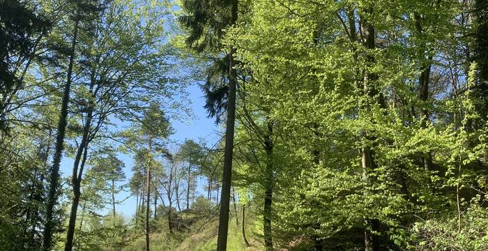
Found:
<svg viewBox="0 0 488 251"><path fill-rule="evenodd" d="M237 22L238 0L232 1L230 25ZM227 250L227 231L229 230L229 202L231 196L232 155L234 151L234 121L236 119L236 85L237 73L234 54L231 47L229 54L229 96L227 100L227 124L225 126L224 174L222 176L222 196L220 197L219 231L217 251Z"/></svg>

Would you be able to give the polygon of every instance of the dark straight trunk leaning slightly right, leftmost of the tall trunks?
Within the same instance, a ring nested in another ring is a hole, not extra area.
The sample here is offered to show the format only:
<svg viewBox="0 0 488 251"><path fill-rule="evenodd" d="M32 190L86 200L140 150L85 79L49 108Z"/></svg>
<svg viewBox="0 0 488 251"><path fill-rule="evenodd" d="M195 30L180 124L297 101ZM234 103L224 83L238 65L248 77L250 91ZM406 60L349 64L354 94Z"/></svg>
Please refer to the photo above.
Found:
<svg viewBox="0 0 488 251"><path fill-rule="evenodd" d="M43 250L49 251L52 245L52 234L54 230L53 213L54 206L58 200L58 187L59 187L59 165L61 164L61 158L63 155L64 135L66 132L66 124L68 123L68 103L70 102L70 87L71 87L71 75L73 73L73 61L75 61L75 47L78 35L78 22L75 21L75 27L73 31L73 41L71 43L70 50L70 63L68 65L68 73L66 79L66 86L64 86L63 100L61 105L61 114L59 116L58 134L56 135L56 151L54 152L54 161L49 175L49 195L47 197L45 227L43 233Z"/></svg>

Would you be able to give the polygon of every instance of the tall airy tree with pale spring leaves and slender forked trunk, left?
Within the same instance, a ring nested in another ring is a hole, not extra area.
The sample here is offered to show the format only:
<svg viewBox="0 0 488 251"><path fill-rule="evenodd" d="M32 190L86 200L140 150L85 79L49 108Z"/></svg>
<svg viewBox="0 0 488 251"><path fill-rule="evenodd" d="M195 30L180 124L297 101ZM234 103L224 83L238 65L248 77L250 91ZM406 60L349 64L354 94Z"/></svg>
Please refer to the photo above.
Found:
<svg viewBox="0 0 488 251"><path fill-rule="evenodd" d="M146 115L144 110L151 99L158 100L160 104L173 95L168 91L173 86L170 87L171 79L165 76L167 71L151 70L156 67L167 69L163 59L165 51L158 50L160 40L165 36L162 22L148 23L134 18L135 15L142 15L144 18L161 20L160 7L159 3L109 1L96 22L91 23L89 32L81 37L82 60L77 66L77 73L83 84L77 86L76 101L81 109L75 116L81 124L81 139L76 146L73 164L73 203L66 250L73 246L79 188L91 143L112 138L107 126L114 117L138 121ZM167 104L175 105L175 102Z"/></svg>

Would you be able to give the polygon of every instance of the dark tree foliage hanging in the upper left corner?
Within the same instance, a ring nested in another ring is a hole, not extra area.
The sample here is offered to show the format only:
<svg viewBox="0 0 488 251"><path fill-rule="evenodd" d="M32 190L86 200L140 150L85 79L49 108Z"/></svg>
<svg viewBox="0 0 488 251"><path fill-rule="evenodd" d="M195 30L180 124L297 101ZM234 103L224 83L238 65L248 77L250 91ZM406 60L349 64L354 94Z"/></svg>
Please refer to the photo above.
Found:
<svg viewBox="0 0 488 251"><path fill-rule="evenodd" d="M8 114L18 109L17 93L33 61L40 61L41 40L52 28L49 17L29 1L2 1L0 10L0 131L8 132ZM22 106L22 105L21 105Z"/></svg>

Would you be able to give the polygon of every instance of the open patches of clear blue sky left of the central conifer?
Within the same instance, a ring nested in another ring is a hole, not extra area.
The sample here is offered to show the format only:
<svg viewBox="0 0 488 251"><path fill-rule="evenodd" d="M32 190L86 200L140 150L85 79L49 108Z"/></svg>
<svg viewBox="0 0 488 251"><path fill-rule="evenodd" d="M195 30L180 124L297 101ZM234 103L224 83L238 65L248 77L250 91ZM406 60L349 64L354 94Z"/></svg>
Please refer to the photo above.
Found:
<svg viewBox="0 0 488 251"><path fill-rule="evenodd" d="M218 137L218 126L215 125L214 119L208 119L206 117L206 110L203 108L204 106L204 97L201 89L197 84L193 84L188 86L188 98L192 100L192 112L195 115L195 119L190 121L173 121L172 126L175 130L174 135L171 135L170 139L176 142L184 142L185 139L193 139L195 142L199 142L200 138L206 139L207 144L210 146L213 145L216 140L219 139ZM123 160L125 163L125 176L127 180L125 181L128 183L129 178L132 176L132 172L130 168L133 165L132 156L131 155L119 155L119 158ZM73 167L73 160L67 158L66 156L63 158L61 162L61 172L62 176L70 176L71 169ZM199 189L201 191L201 189ZM121 192L117 195L117 200L123 200L129 196L129 192ZM129 217L135 212L135 197L129 197L125 199L122 204L116 206L116 211L122 213L126 217ZM107 205L108 208L109 205Z"/></svg>

